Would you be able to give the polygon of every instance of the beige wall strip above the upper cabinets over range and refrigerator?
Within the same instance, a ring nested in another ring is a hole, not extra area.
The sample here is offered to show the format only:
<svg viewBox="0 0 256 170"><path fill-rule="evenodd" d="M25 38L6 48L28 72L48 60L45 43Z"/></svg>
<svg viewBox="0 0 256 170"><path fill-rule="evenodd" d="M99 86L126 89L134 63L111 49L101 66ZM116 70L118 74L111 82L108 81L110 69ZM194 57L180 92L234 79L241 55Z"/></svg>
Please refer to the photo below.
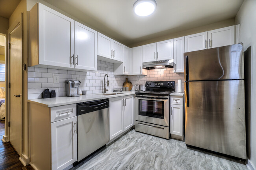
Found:
<svg viewBox="0 0 256 170"><path fill-rule="evenodd" d="M145 44L149 44L149 43L160 42L160 41L163 41L163 40L169 40L169 39L178 38L178 37L181 37L181 36L191 35L191 34L195 34L195 33L201 33L201 32L204 32L204 31L210 31L210 30L213 30L213 29L218 29L218 28L223 28L223 27L228 27L228 26L231 26L231 25L235 25L234 18L229 19L229 20L224 20L224 21L221 21L221 22L217 22L217 23L214 23L214 24L209 24L209 25L204 25L204 26L201 26L201 27L189 29L189 30L186 30L186 31L178 31L177 30L176 33L167 34L166 36L159 36L158 38L152 38L150 40L146 40L146 41L143 41L143 42L133 43L133 44L128 45L128 47L130 47L130 48L137 47L137 46L145 45Z"/></svg>

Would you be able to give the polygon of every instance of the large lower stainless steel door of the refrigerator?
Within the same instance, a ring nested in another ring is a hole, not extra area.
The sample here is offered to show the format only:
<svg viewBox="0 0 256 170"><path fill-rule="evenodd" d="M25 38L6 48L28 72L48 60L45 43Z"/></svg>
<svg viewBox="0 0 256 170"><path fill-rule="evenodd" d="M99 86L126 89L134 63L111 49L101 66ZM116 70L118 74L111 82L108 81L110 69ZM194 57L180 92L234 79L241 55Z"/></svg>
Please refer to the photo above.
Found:
<svg viewBox="0 0 256 170"><path fill-rule="evenodd" d="M188 83L186 144L246 159L244 80Z"/></svg>

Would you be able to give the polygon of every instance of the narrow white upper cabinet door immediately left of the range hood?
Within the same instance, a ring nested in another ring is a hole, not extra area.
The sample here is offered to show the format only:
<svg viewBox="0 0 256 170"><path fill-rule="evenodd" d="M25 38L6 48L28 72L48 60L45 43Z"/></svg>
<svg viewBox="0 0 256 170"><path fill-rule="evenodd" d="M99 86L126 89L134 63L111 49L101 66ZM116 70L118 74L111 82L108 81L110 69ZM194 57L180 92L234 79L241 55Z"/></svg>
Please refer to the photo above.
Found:
<svg viewBox="0 0 256 170"><path fill-rule="evenodd" d="M132 48L132 74L142 74L142 46Z"/></svg>

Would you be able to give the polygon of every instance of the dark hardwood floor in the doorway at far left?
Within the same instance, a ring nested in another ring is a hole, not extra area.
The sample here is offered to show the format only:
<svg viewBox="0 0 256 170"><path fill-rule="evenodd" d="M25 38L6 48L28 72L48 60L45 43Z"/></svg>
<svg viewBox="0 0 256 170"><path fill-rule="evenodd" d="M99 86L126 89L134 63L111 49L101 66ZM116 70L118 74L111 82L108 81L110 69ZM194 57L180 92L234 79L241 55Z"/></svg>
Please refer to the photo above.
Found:
<svg viewBox="0 0 256 170"><path fill-rule="evenodd" d="M15 152L9 142L3 143L4 121L0 121L0 170L33 170L32 166L23 166L19 155Z"/></svg>

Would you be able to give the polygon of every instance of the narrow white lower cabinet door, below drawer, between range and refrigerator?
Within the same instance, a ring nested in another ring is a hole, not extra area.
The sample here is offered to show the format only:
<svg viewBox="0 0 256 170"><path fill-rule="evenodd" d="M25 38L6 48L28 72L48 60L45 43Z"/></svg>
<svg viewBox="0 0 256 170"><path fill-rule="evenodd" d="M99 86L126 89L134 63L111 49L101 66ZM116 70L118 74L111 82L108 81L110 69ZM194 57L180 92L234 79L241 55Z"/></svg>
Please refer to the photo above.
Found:
<svg viewBox="0 0 256 170"><path fill-rule="evenodd" d="M183 136L183 105L171 105L171 134Z"/></svg>

